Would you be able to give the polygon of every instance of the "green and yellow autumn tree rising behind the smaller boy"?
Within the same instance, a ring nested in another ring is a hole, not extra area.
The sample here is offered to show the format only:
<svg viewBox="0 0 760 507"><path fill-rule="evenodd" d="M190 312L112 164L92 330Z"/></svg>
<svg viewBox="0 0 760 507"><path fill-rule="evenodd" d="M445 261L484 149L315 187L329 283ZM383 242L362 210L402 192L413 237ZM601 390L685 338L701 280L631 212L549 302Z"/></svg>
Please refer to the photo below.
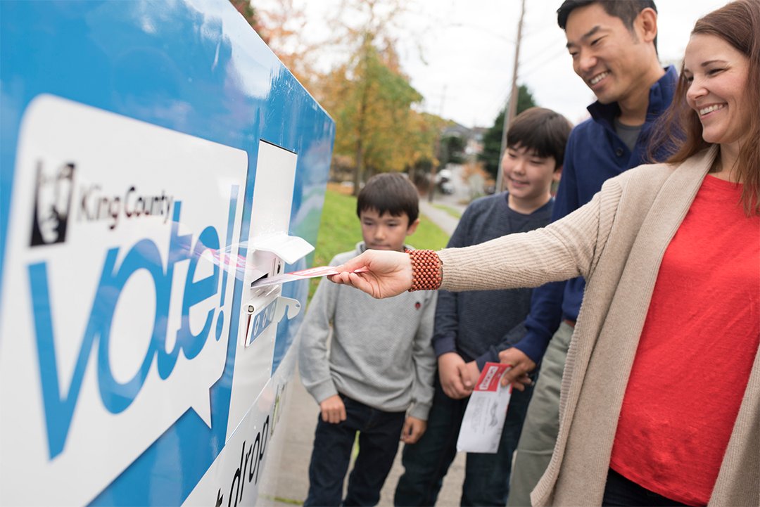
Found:
<svg viewBox="0 0 760 507"><path fill-rule="evenodd" d="M391 36L406 5L344 0L332 20L334 42L350 56L325 78L318 99L335 118L335 153L353 156L355 193L375 173L402 171L433 156L435 125L413 109L423 96L401 70Z"/></svg>

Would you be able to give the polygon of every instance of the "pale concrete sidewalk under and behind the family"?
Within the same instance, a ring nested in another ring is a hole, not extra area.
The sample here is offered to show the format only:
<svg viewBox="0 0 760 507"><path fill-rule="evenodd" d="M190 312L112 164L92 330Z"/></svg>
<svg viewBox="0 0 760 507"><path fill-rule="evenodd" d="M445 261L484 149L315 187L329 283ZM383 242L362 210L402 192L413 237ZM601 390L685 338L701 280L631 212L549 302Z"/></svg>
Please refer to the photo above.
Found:
<svg viewBox="0 0 760 507"><path fill-rule="evenodd" d="M455 203L451 199L447 200L445 196L438 194L435 196L435 203L458 209L460 212L464 210L464 206L461 204ZM454 232L454 228L459 222L445 210L432 206L424 196L420 197L420 213L442 228L448 235ZM284 423L285 430L285 443L283 455L280 457L280 472L275 494L280 501L275 502L274 505L290 505L292 507L293 505L301 505L309 491L309 459L312 456L318 405L303 388L297 368L288 389L290 392L283 412L283 420L280 422L280 424ZM393 493L398 478L404 473L404 467L401 466L403 449L404 444L401 444L391 473L388 474L388 480L385 481L385 487L382 489L378 503L380 507L393 505ZM451 464L451 468L448 469L438 502L435 505L442 507L459 505L462 481L464 480L464 456L464 453L458 453Z"/></svg>

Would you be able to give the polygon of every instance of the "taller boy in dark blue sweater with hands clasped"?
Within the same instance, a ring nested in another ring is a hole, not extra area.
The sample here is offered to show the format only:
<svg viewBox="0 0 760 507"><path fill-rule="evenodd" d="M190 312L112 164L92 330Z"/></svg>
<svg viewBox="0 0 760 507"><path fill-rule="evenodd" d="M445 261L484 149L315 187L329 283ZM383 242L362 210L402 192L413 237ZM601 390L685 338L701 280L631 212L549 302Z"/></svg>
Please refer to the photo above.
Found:
<svg viewBox="0 0 760 507"><path fill-rule="evenodd" d="M559 181L572 125L549 109L528 109L507 132L502 159L506 192L476 200L464 212L448 247L467 247L549 223L551 186ZM488 276L488 266L483 266ZM511 344L508 332L530 309L530 289L439 291L432 342L439 375L428 427L415 446L404 447L404 475L395 505L435 505L473 386L486 361L499 361ZM521 334L518 333L518 338ZM531 388L512 394L496 454L467 454L461 505L505 505L512 452L530 401Z"/></svg>

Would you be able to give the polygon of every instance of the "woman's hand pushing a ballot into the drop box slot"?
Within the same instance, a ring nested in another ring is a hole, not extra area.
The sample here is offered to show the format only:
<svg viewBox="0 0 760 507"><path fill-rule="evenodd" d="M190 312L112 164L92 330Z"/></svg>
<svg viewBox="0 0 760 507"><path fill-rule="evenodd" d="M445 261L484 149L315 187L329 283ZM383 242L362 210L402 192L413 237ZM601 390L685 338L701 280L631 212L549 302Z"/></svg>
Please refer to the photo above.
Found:
<svg viewBox="0 0 760 507"><path fill-rule="evenodd" d="M367 270L354 272L359 268ZM331 282L358 288L372 298L390 298L412 286L412 261L404 252L366 250L335 269L340 273L328 277Z"/></svg>

